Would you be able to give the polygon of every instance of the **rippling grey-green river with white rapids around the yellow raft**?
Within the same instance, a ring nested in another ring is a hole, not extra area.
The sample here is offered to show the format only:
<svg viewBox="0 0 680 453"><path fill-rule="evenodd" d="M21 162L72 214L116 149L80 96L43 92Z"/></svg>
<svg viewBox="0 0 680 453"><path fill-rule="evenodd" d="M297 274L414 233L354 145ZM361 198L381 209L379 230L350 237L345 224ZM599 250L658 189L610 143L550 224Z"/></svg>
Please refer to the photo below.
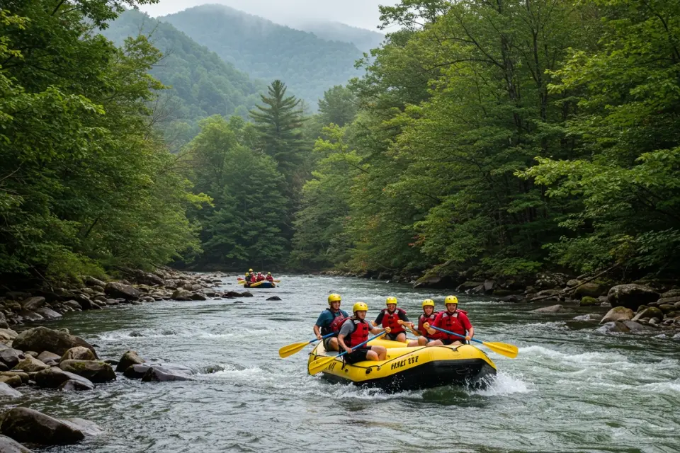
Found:
<svg viewBox="0 0 680 453"><path fill-rule="evenodd" d="M21 390L17 402L56 417L93 420L106 430L50 452L678 452L680 343L665 336L602 335L574 314L528 313L536 305L458 296L477 338L519 346L493 352L496 381L385 394L307 375L312 324L339 292L343 308L368 303L369 317L395 295L413 319L446 291L343 277L283 276L248 299L158 302L64 316L102 357L133 349L188 365L191 382L119 377L95 391ZM235 277L224 289L238 289ZM266 302L278 295L280 302ZM242 304L237 303L241 300ZM604 309L597 309L604 313ZM590 312L593 310L590 309Z"/></svg>

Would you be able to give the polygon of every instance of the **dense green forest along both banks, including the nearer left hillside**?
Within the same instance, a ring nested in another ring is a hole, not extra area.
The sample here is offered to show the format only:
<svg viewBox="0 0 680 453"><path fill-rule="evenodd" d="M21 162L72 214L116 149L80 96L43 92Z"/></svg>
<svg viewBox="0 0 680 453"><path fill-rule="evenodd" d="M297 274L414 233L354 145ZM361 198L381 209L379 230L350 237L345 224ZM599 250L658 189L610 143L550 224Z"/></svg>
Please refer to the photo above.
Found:
<svg viewBox="0 0 680 453"><path fill-rule="evenodd" d="M145 0L71 3L0 16L4 280L680 270L675 1L402 0L315 112L305 81L246 76L188 25L108 34Z"/></svg>

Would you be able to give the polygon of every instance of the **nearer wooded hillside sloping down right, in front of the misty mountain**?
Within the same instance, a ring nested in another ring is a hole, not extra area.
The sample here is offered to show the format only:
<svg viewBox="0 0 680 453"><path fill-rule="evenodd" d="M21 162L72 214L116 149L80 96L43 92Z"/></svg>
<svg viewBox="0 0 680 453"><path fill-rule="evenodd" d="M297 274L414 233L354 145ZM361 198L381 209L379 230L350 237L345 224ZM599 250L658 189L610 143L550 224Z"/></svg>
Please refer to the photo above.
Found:
<svg viewBox="0 0 680 453"><path fill-rule="evenodd" d="M140 30L164 58L151 71L163 84L172 86L165 97L164 110L170 120L181 120L196 127L196 121L210 115L246 116L259 100L266 84L226 63L220 57L169 23L157 21L140 11L121 14L102 34L121 45Z"/></svg>

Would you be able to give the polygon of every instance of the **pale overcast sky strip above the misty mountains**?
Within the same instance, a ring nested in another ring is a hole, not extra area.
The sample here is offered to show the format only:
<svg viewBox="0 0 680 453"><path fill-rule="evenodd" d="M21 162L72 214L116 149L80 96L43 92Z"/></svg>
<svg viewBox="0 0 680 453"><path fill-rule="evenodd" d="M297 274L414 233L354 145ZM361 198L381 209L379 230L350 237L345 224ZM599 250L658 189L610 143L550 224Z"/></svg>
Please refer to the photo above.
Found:
<svg viewBox="0 0 680 453"><path fill-rule="evenodd" d="M164 16L192 6L223 4L276 23L294 24L296 19L338 21L375 30L378 5L394 5L398 0L160 0L142 8L151 16Z"/></svg>

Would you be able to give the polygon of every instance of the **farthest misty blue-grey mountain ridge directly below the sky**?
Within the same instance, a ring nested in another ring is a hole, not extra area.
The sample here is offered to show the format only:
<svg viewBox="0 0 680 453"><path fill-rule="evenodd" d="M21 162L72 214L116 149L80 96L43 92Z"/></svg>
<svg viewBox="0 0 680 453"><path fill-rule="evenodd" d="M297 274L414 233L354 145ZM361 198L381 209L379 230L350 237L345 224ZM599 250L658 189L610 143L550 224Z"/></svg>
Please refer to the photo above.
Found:
<svg viewBox="0 0 680 453"><path fill-rule="evenodd" d="M203 5L162 18L250 76L281 79L289 92L316 107L324 91L360 75L362 52L227 6Z"/></svg>

